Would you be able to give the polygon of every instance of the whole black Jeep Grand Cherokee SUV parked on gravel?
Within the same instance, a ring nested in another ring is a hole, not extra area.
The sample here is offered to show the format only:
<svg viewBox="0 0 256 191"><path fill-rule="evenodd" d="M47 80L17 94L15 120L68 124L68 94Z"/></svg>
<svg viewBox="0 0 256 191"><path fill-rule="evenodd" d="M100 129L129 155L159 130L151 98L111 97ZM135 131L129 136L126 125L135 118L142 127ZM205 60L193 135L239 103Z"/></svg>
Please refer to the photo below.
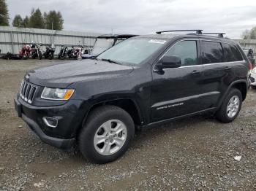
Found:
<svg viewBox="0 0 256 191"><path fill-rule="evenodd" d="M42 141L77 145L90 161L108 163L127 151L137 127L203 112L232 122L248 71L248 58L230 39L158 32L94 59L27 72L15 108Z"/></svg>

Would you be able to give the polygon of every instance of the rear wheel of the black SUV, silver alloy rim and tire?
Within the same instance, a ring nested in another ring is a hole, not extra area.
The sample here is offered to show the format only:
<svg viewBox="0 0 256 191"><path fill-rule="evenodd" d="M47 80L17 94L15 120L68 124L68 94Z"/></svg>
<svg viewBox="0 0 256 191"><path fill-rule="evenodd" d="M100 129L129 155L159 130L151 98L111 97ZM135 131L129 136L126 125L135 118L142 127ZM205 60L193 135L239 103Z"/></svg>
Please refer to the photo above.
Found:
<svg viewBox="0 0 256 191"><path fill-rule="evenodd" d="M232 99L232 100L231 100ZM237 104L234 104L237 103ZM227 93L222 106L216 113L216 117L221 122L233 122L238 116L242 104L242 95L241 91L231 87L229 93ZM227 107L232 106L229 112L227 112ZM233 111L233 112L232 112Z"/></svg>

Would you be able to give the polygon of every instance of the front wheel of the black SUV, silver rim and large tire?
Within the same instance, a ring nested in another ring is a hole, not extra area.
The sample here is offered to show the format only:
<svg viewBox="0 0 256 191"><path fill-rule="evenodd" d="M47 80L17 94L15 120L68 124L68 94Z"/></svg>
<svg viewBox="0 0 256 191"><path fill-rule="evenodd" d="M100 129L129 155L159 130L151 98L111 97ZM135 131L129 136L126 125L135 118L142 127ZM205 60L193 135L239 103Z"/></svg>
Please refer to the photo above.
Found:
<svg viewBox="0 0 256 191"><path fill-rule="evenodd" d="M118 126L118 132L113 133ZM124 130L120 131L121 128ZM78 147L82 155L92 163L110 163L127 151L134 134L134 122L124 109L117 106L100 106L89 114L80 130ZM99 144L96 144L97 138L100 139ZM120 147L117 142L121 143Z"/></svg>

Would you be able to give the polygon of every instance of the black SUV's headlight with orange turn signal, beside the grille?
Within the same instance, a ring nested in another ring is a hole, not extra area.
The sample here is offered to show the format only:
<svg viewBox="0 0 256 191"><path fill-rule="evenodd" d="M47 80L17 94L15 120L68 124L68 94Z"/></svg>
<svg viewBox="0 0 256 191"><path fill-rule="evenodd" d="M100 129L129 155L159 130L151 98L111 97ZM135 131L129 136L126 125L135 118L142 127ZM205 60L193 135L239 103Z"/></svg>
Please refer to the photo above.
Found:
<svg viewBox="0 0 256 191"><path fill-rule="evenodd" d="M45 87L41 98L51 100L69 100L75 90Z"/></svg>

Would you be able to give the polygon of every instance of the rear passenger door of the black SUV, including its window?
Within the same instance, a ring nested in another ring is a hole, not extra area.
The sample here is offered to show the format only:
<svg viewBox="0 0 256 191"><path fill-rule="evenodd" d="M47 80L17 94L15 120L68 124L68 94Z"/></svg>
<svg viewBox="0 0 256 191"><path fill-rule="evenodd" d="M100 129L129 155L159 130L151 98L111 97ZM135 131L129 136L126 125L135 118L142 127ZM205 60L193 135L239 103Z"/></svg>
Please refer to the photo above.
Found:
<svg viewBox="0 0 256 191"><path fill-rule="evenodd" d="M200 40L201 62L203 65L202 99L205 109L217 106L221 93L225 92L232 77L232 64L225 62L221 42Z"/></svg>

